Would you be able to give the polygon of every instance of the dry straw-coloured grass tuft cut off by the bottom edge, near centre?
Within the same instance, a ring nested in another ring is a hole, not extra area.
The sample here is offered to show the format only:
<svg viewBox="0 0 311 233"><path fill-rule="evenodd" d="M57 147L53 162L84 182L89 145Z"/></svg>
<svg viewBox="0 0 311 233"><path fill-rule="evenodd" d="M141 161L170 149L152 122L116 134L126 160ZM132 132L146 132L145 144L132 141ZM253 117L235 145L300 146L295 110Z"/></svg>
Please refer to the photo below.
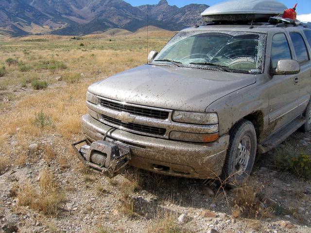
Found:
<svg viewBox="0 0 311 233"><path fill-rule="evenodd" d="M180 226L177 216L172 213L165 213L163 218L158 219L154 225L148 228L148 233L191 233L185 227Z"/></svg>

